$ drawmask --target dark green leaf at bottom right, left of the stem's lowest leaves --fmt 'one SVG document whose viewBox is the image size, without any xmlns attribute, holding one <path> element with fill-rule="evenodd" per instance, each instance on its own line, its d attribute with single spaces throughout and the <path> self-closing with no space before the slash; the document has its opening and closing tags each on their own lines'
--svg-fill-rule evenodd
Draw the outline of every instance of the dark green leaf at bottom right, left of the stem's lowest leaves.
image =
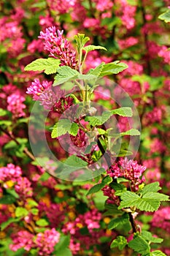
<svg viewBox="0 0 170 256">
<path fill-rule="evenodd" d="M 137 236 L 133 240 L 128 243 L 128 246 L 131 249 L 134 249 L 135 252 L 141 253 L 142 255 L 146 255 L 150 252 L 150 246 L 147 241 L 142 238 L 142 236 Z"/>
</svg>

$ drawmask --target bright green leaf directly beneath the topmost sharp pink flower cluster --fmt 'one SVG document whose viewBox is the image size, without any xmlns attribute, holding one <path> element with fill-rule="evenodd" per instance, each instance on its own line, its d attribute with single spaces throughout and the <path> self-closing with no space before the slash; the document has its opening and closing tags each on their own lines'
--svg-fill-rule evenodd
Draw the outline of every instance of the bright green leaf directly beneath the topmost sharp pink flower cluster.
<svg viewBox="0 0 170 256">
<path fill-rule="evenodd" d="M 58 74 L 55 75 L 53 86 L 58 86 L 61 83 L 66 83 L 67 81 L 77 79 L 78 75 L 80 75 L 77 70 L 72 69 L 69 66 L 61 66 L 58 68 L 57 72 Z"/>
</svg>

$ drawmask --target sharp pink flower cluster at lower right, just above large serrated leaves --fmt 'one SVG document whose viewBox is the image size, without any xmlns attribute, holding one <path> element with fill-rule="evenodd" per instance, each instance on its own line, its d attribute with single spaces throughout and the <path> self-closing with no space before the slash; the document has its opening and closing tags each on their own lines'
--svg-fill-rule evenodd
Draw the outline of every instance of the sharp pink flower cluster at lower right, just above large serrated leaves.
<svg viewBox="0 0 170 256">
<path fill-rule="evenodd" d="M 115 165 L 112 165 L 107 173 L 113 178 L 123 177 L 131 181 L 131 190 L 138 190 L 139 184 L 144 182 L 142 174 L 146 167 L 138 165 L 137 161 L 128 160 L 127 157 L 121 158 Z"/>
</svg>

